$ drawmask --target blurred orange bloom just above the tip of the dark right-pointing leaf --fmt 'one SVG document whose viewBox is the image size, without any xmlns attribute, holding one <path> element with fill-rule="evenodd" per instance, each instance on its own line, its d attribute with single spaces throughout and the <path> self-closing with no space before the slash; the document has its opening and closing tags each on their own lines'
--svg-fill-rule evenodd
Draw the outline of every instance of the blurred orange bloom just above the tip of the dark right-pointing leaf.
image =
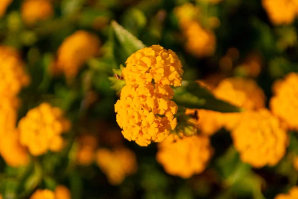
<svg viewBox="0 0 298 199">
<path fill-rule="evenodd" d="M 214 95 L 245 109 L 265 106 L 265 94 L 255 81 L 245 78 L 226 78 L 214 90 Z"/>
</svg>

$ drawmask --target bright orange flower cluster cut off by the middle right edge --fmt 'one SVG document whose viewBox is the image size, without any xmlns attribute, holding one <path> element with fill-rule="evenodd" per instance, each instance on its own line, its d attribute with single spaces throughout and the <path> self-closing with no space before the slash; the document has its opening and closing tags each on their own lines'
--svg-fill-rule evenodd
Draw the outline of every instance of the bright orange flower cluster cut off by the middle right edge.
<svg viewBox="0 0 298 199">
<path fill-rule="evenodd" d="M 298 130 L 298 73 L 290 73 L 273 87 L 270 100 L 272 113 L 285 122 L 289 129 Z"/>
</svg>

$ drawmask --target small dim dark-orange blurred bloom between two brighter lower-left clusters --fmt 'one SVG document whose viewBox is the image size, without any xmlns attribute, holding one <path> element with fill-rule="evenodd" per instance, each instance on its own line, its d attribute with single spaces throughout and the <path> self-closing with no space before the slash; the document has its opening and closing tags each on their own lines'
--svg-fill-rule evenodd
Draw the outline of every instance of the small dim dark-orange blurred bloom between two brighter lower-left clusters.
<svg viewBox="0 0 298 199">
<path fill-rule="evenodd" d="M 98 140 L 93 135 L 83 134 L 79 138 L 79 149 L 77 152 L 77 164 L 88 166 L 92 164 Z"/>
</svg>

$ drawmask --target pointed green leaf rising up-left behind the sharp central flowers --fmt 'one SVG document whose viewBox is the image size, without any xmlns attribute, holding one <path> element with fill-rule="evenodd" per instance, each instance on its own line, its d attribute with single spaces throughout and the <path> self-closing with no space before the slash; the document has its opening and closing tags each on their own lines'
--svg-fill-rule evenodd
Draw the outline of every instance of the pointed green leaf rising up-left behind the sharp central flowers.
<svg viewBox="0 0 298 199">
<path fill-rule="evenodd" d="M 126 59 L 129 56 L 131 56 L 131 54 L 135 53 L 137 50 L 146 47 L 141 40 L 139 40 L 132 33 L 124 29 L 116 21 L 111 22 L 111 27 L 113 28 L 114 34 L 120 44 L 120 49 L 118 47 L 118 49 L 115 50 L 122 50 Z"/>
</svg>

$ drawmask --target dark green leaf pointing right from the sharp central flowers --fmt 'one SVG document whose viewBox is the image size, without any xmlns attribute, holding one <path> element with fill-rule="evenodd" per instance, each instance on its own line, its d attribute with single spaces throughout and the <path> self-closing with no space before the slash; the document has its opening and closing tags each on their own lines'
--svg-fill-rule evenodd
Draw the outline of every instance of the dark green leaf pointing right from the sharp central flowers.
<svg viewBox="0 0 298 199">
<path fill-rule="evenodd" d="M 241 108 L 215 98 L 196 82 L 183 82 L 174 89 L 174 101 L 185 108 L 210 109 L 220 112 L 240 112 Z"/>
</svg>

